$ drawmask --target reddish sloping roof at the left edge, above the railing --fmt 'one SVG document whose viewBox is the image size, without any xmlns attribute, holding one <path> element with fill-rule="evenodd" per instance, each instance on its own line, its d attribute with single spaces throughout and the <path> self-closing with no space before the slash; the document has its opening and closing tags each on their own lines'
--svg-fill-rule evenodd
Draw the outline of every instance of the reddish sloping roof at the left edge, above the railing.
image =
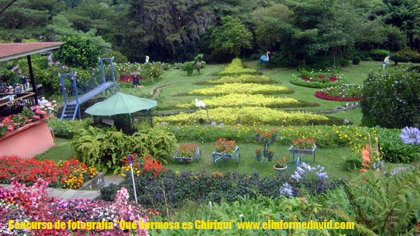
<svg viewBox="0 0 420 236">
<path fill-rule="evenodd" d="M 63 42 L 45 43 L 0 43 L 0 61 L 6 61 L 30 54 L 59 48 Z"/>
</svg>

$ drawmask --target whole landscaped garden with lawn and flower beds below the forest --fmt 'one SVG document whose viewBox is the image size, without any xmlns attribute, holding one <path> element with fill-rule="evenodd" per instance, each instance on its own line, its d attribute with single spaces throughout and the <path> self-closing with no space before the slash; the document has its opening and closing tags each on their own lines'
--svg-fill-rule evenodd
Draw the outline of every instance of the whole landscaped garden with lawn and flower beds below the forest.
<svg viewBox="0 0 420 236">
<path fill-rule="evenodd" d="M 363 62 L 330 71 L 256 71 L 255 61 L 234 59 L 230 64 L 202 63 L 200 74 L 189 75 L 183 64 L 156 62 L 144 78 L 158 79 L 134 88 L 127 75 L 142 66 L 126 63 L 115 68 L 123 92 L 158 100 L 153 127 L 136 114 L 130 135 L 115 126 L 97 126 L 90 118 L 52 117 L 48 124 L 59 146 L 27 160 L 0 158 L 0 182 L 13 184 L 11 190 L 0 189 L 0 207 L 6 211 L 0 222 L 34 217 L 105 222 L 95 230 L 45 231 L 59 235 L 124 235 L 117 223 L 123 220 L 354 223 L 351 230 L 125 230 L 133 235 L 419 231 L 420 131 L 404 128 L 419 125 L 420 89 L 412 84 L 420 76 L 410 64 L 386 73 L 377 73 L 381 65 Z M 377 95 L 378 87 L 386 89 Z M 195 98 L 205 108 L 197 107 Z M 2 121 L 7 126 L 3 136 L 28 117 L 57 113 L 54 105 L 24 111 Z M 100 201 L 57 200 L 46 194 L 47 186 L 78 189 L 97 172 L 123 177 L 120 184 L 101 189 Z M 0 225 L 0 232 L 30 231 L 7 227 Z M 41 234 L 37 229 L 31 232 Z"/>
</svg>

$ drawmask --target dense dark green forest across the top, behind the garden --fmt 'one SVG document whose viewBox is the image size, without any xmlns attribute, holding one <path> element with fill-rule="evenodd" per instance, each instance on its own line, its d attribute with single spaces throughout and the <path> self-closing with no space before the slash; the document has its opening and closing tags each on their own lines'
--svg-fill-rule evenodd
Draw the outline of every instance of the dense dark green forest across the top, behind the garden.
<svg viewBox="0 0 420 236">
<path fill-rule="evenodd" d="M 269 50 L 291 66 L 416 49 L 419 13 L 417 0 L 0 0 L 0 42 L 85 37 L 102 56 L 169 63 Z"/>
</svg>

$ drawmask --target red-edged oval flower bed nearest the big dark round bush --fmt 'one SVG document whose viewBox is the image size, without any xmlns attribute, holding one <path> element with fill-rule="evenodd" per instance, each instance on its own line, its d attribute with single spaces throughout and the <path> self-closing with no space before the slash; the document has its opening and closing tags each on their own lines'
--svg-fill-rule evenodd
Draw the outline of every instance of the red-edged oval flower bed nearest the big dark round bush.
<svg viewBox="0 0 420 236">
<path fill-rule="evenodd" d="M 330 101 L 359 101 L 362 88 L 356 84 L 341 84 L 316 91 L 315 96 Z"/>
</svg>

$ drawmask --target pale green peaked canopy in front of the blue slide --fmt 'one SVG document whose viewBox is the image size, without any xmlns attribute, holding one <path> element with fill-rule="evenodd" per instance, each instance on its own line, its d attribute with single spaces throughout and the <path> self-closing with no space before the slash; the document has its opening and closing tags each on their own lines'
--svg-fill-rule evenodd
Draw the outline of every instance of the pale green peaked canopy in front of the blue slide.
<svg viewBox="0 0 420 236">
<path fill-rule="evenodd" d="M 110 116 L 149 110 L 157 105 L 158 101 L 155 100 L 118 93 L 105 101 L 92 105 L 85 112 L 90 115 Z"/>
</svg>

